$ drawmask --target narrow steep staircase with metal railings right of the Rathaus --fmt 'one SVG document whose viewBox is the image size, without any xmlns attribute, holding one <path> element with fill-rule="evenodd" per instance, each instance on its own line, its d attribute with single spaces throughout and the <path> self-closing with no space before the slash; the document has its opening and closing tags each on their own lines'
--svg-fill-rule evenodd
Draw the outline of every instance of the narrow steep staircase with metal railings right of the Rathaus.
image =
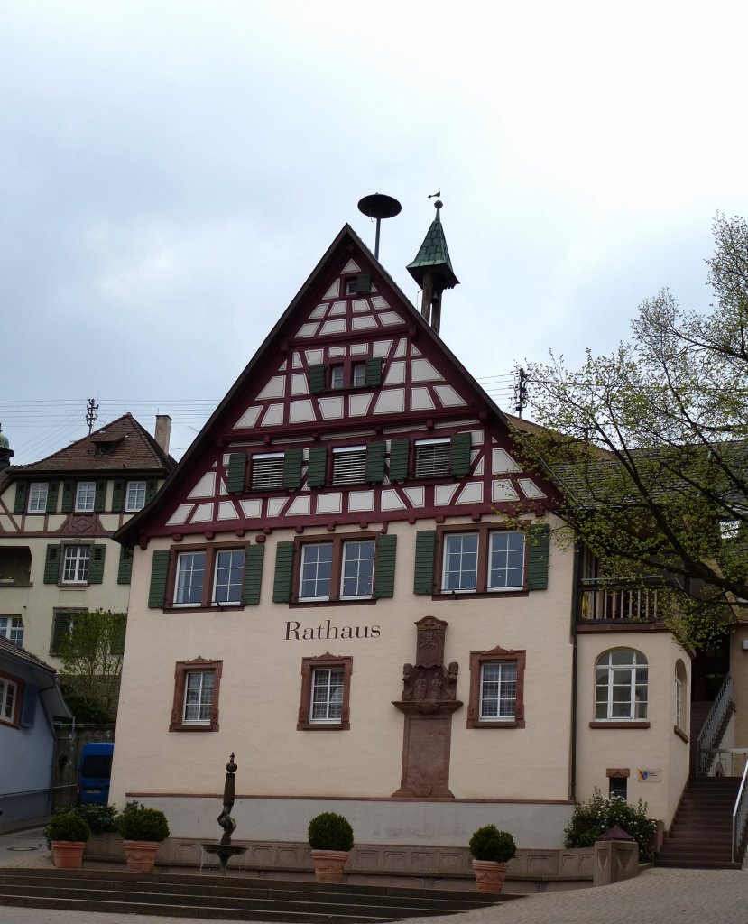
<svg viewBox="0 0 748 924">
<path fill-rule="evenodd" d="M 745 845 L 732 863 L 732 809 L 740 779 L 697 777 L 690 781 L 658 852 L 658 867 L 741 869 Z"/>
</svg>

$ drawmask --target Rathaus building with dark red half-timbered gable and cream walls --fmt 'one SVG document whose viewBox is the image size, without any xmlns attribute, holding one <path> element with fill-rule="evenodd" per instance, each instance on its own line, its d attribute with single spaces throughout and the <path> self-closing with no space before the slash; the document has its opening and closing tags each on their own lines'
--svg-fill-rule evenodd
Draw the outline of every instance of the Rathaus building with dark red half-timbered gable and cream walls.
<svg viewBox="0 0 748 924">
<path fill-rule="evenodd" d="M 439 215 L 410 269 L 421 314 L 345 225 L 117 534 L 112 796 L 163 808 L 176 860 L 216 837 L 232 751 L 236 836 L 283 842 L 270 866 L 326 808 L 372 869 L 449 869 L 489 821 L 560 847 L 596 786 L 668 825 L 688 779 L 691 659 L 660 625 L 587 626 L 554 488 L 431 326 Z"/>
</svg>

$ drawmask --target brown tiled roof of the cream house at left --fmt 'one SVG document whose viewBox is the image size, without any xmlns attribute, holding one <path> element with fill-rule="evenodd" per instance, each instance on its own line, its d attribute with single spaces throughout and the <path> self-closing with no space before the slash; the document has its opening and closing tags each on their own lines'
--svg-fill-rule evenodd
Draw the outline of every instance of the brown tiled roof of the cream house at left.
<svg viewBox="0 0 748 924">
<path fill-rule="evenodd" d="M 125 414 L 88 436 L 29 465 L 11 466 L 4 474 L 47 475 L 65 472 L 166 471 L 176 460 L 131 415 Z"/>
</svg>

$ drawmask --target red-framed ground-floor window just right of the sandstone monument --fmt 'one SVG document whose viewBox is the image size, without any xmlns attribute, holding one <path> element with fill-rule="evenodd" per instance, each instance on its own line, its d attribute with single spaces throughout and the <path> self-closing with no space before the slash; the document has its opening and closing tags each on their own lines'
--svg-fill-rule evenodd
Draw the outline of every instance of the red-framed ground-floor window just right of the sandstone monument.
<svg viewBox="0 0 748 924">
<path fill-rule="evenodd" d="M 525 727 L 525 651 L 470 653 L 467 728 Z"/>
</svg>

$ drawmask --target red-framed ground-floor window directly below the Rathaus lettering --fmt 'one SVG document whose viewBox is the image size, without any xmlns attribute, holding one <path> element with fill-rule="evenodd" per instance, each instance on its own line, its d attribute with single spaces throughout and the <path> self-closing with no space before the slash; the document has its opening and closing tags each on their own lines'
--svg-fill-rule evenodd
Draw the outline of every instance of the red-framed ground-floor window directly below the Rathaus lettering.
<svg viewBox="0 0 748 924">
<path fill-rule="evenodd" d="M 301 705 L 296 728 L 350 728 L 349 700 L 353 659 L 322 655 L 301 665 Z"/>
</svg>

